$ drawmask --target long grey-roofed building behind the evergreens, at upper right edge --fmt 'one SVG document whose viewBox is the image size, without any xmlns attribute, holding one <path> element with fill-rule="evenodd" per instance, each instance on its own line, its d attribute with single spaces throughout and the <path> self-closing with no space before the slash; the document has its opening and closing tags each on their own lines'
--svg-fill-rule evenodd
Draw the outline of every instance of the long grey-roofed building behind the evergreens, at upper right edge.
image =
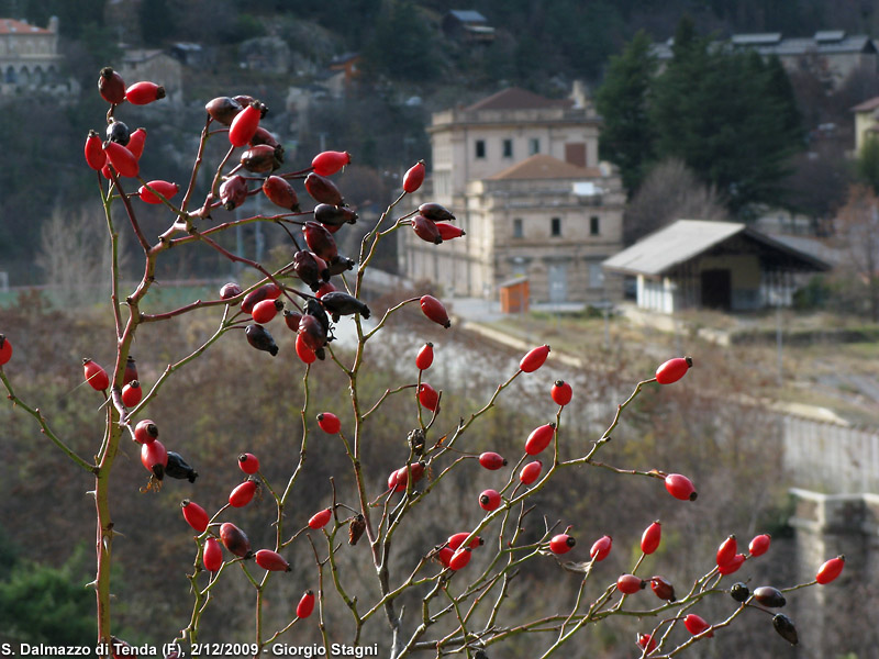
<svg viewBox="0 0 879 659">
<path fill-rule="evenodd" d="M 655 44 L 654 55 L 660 65 L 672 57 L 675 40 Z M 756 51 L 764 58 L 776 55 L 788 72 L 811 71 L 827 89 L 839 85 L 856 70 L 879 72 L 879 48 L 866 34 L 847 34 L 844 30 L 823 30 L 812 36 L 790 37 L 780 32 L 734 34 L 717 47 Z"/>
</svg>

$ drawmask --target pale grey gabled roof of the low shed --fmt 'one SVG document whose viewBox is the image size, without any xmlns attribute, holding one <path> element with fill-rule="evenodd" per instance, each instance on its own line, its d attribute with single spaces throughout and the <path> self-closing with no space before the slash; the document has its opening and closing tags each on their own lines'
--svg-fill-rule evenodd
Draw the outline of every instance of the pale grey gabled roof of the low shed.
<svg viewBox="0 0 879 659">
<path fill-rule="evenodd" d="M 788 267 L 800 270 L 828 270 L 816 257 L 775 241 L 739 222 L 678 220 L 607 259 L 608 270 L 657 277 L 721 245 L 733 236 L 757 243 L 764 250 L 785 257 Z"/>
</svg>

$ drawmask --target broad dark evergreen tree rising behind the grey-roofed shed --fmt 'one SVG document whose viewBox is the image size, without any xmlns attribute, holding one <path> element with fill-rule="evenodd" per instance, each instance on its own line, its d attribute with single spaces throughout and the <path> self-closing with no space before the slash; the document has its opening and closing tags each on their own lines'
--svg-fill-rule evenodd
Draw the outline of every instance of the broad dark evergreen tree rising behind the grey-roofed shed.
<svg viewBox="0 0 879 659">
<path fill-rule="evenodd" d="M 780 183 L 802 147 L 802 131 L 780 75 L 756 52 L 712 46 L 681 21 L 674 58 L 655 81 L 657 156 L 682 159 L 733 213 L 783 203 Z"/>
</svg>

